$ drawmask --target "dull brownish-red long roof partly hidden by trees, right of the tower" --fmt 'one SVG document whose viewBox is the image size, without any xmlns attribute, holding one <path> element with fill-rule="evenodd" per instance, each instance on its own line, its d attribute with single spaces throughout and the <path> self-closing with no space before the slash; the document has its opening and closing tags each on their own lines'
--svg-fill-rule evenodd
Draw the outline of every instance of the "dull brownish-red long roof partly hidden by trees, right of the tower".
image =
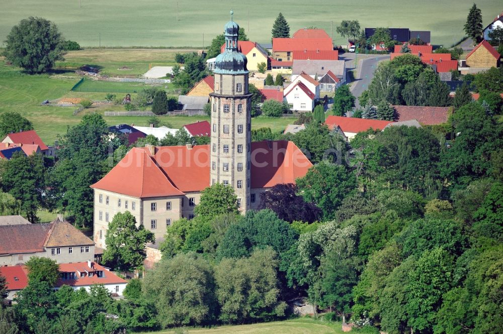
<svg viewBox="0 0 503 334">
<path fill-rule="evenodd" d="M 417 120 L 421 124 L 435 125 L 445 123 L 449 118 L 447 106 L 393 105 L 393 107 L 398 122 Z"/>
</svg>

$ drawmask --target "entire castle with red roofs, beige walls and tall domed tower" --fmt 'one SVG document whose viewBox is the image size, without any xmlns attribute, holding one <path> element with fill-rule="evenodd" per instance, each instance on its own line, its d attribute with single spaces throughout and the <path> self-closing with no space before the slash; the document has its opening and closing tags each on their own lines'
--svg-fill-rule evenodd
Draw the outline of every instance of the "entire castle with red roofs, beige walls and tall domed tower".
<svg viewBox="0 0 503 334">
<path fill-rule="evenodd" d="M 225 51 L 215 60 L 210 145 L 133 148 L 91 186 L 98 247 L 105 247 L 116 213 L 130 211 L 158 239 L 174 221 L 194 217 L 201 191 L 212 184 L 231 186 L 245 213 L 258 208 L 262 192 L 295 183 L 312 166 L 293 142 L 251 142 L 251 94 L 238 31 L 231 12 L 224 27 Z"/>
</svg>

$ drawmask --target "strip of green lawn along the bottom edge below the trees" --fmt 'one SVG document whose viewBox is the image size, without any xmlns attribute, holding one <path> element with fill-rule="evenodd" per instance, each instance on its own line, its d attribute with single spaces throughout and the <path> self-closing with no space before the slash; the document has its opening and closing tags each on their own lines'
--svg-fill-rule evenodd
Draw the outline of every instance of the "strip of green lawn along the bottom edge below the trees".
<svg viewBox="0 0 503 334">
<path fill-rule="evenodd" d="M 342 334 L 341 323 L 332 322 L 322 323 L 307 318 L 265 322 L 250 325 L 221 326 L 211 329 L 192 329 L 185 331 L 164 330 L 158 331 L 158 334 Z"/>
</svg>

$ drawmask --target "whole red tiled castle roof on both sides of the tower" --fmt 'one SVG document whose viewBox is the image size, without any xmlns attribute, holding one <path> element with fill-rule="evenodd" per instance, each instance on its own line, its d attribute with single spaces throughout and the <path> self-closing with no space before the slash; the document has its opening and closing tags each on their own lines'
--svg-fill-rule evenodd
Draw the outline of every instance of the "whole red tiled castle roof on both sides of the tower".
<svg viewBox="0 0 503 334">
<path fill-rule="evenodd" d="M 294 183 L 295 179 L 303 177 L 307 169 L 312 166 L 293 142 L 275 141 L 269 144 L 272 145 L 271 149 L 268 149 L 266 142 L 251 143 L 252 188 L 272 187 L 277 183 Z M 286 152 L 277 151 L 275 147 L 285 149 Z M 151 160 L 146 160 L 144 155 L 148 155 Z M 192 149 L 186 146 L 155 147 L 153 156 L 148 148 L 133 148 L 117 166 L 91 187 L 134 197 L 143 196 L 138 190 L 134 190 L 139 188 L 138 184 L 147 188 L 162 189 L 163 184 L 169 182 L 178 188 L 175 189 L 179 190 L 180 194 L 183 194 L 180 191 L 202 191 L 210 186 L 209 155 L 209 145 L 194 146 Z M 143 168 L 142 165 L 150 161 L 155 162 L 157 170 L 153 167 Z M 270 161 L 273 163 L 262 165 L 263 162 Z M 139 176 L 134 176 L 134 173 Z M 173 193 L 166 192 L 163 195 L 171 194 Z"/>
</svg>

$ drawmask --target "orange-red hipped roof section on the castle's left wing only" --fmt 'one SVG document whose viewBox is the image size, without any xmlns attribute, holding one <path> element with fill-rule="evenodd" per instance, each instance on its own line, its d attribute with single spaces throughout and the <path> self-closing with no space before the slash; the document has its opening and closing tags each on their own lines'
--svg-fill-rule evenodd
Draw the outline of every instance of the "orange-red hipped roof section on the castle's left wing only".
<svg viewBox="0 0 503 334">
<path fill-rule="evenodd" d="M 147 150 L 136 147 L 91 188 L 139 198 L 183 195 L 166 178 Z"/>
</svg>

